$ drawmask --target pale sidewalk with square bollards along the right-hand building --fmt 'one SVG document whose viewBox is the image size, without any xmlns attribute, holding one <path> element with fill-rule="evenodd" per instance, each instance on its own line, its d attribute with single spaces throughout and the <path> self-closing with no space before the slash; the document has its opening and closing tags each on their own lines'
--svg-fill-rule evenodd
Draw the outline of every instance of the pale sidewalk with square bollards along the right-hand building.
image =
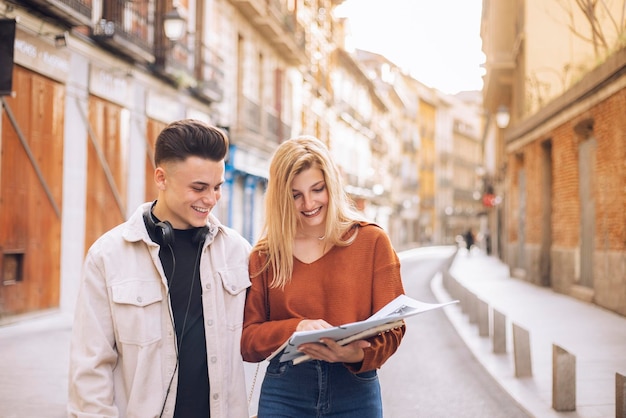
<svg viewBox="0 0 626 418">
<path fill-rule="evenodd" d="M 509 276 L 508 266 L 480 251 L 460 249 L 450 275 L 506 316 L 506 354 L 494 354 L 490 337 L 479 336 L 460 304 L 445 312 L 475 357 L 531 415 L 612 418 L 616 416 L 615 373 L 626 374 L 626 318 L 596 305 Z M 451 297 L 441 275 L 432 282 L 440 301 Z M 491 316 L 491 315 L 490 315 Z M 530 336 L 531 377 L 515 377 L 511 324 Z M 490 332 L 492 335 L 492 332 Z M 552 408 L 552 345 L 576 357 L 576 411 Z M 621 418 L 621 417 L 620 417 Z"/>
</svg>

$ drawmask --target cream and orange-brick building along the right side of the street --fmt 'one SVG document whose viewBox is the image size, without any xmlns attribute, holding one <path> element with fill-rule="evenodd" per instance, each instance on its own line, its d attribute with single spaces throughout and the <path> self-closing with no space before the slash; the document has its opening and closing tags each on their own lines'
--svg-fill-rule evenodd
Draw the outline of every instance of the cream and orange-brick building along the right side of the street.
<svg viewBox="0 0 626 418">
<path fill-rule="evenodd" d="M 517 277 L 626 315 L 623 3 L 483 6 L 498 253 Z"/>
</svg>

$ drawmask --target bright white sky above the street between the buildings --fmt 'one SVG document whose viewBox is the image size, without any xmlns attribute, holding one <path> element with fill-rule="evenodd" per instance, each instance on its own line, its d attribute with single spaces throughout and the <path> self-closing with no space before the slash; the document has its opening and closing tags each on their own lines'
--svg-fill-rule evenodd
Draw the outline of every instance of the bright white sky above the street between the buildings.
<svg viewBox="0 0 626 418">
<path fill-rule="evenodd" d="M 482 89 L 481 9 L 482 0 L 346 0 L 336 13 L 348 18 L 354 48 L 456 94 Z"/>
</svg>

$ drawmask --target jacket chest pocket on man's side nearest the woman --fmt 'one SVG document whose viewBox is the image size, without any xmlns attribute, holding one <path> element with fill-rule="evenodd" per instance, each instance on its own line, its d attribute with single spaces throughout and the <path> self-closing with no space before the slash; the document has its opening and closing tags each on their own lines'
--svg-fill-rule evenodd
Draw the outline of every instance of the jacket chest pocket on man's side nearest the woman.
<svg viewBox="0 0 626 418">
<path fill-rule="evenodd" d="M 224 288 L 224 313 L 226 323 L 230 329 L 240 329 L 243 326 L 243 306 L 246 301 L 246 289 L 252 284 L 248 275 L 248 268 L 235 267 L 217 272 Z"/>
</svg>

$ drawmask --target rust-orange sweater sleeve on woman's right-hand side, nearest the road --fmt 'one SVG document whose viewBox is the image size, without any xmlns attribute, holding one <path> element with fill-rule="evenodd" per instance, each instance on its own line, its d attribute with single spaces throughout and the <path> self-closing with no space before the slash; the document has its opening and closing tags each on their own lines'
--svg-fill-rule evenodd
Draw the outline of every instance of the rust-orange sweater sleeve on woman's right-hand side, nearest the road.
<svg viewBox="0 0 626 418">
<path fill-rule="evenodd" d="M 397 296 L 404 294 L 402 277 L 400 274 L 400 259 L 394 251 L 387 234 L 378 229 L 373 242 L 374 271 L 372 272 L 372 314 L 391 302 Z M 396 328 L 375 337 L 368 338 L 371 346 L 366 348 L 363 361 L 355 364 L 346 364 L 354 373 L 380 368 L 396 352 L 404 337 L 406 325 Z"/>
</svg>

